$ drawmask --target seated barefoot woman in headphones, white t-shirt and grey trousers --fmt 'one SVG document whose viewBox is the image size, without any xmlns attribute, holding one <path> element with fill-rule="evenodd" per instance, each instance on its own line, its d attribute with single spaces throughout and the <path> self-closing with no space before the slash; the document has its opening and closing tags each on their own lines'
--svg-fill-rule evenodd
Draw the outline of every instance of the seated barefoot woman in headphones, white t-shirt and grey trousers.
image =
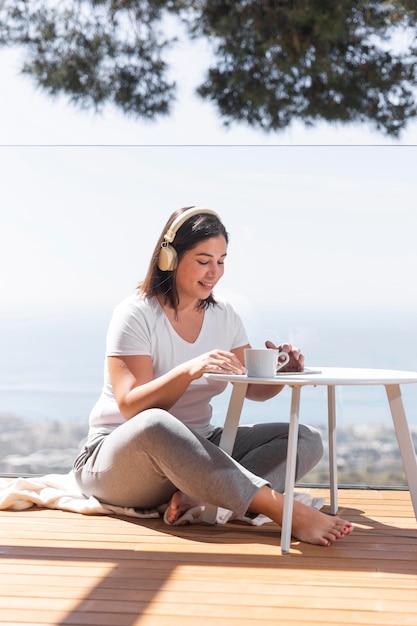
<svg viewBox="0 0 417 626">
<path fill-rule="evenodd" d="M 213 295 L 227 244 L 215 212 L 180 209 L 168 220 L 138 292 L 115 309 L 103 391 L 74 464 L 85 495 L 141 509 L 169 502 L 171 524 L 202 503 L 281 523 L 288 424 L 240 426 L 231 458 L 218 447 L 222 429 L 210 421 L 210 400 L 227 383 L 203 374 L 244 374 L 250 347 L 235 310 Z M 279 347 L 290 355 L 287 369 L 302 371 L 300 350 Z M 281 389 L 249 385 L 247 397 L 262 401 Z M 318 432 L 301 426 L 297 480 L 322 452 Z M 292 531 L 301 541 L 330 545 L 351 530 L 345 520 L 294 502 Z"/>
</svg>

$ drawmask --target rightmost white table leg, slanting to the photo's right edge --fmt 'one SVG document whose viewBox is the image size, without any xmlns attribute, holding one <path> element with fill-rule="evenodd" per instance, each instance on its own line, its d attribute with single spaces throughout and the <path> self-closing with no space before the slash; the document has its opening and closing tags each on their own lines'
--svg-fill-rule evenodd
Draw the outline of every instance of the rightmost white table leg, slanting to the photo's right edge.
<svg viewBox="0 0 417 626">
<path fill-rule="evenodd" d="M 413 440 L 404 411 L 399 385 L 385 385 L 392 421 L 403 461 L 404 472 L 410 490 L 414 514 L 417 518 L 417 459 Z"/>
</svg>

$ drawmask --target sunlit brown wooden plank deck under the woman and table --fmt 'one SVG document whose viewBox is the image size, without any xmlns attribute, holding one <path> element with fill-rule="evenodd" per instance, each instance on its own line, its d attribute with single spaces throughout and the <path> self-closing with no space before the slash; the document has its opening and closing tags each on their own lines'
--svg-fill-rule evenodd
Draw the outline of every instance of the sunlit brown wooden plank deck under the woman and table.
<svg viewBox="0 0 417 626">
<path fill-rule="evenodd" d="M 340 490 L 339 501 L 354 533 L 329 548 L 293 541 L 286 556 L 274 524 L 2 511 L 0 623 L 416 626 L 408 491 Z"/>
</svg>

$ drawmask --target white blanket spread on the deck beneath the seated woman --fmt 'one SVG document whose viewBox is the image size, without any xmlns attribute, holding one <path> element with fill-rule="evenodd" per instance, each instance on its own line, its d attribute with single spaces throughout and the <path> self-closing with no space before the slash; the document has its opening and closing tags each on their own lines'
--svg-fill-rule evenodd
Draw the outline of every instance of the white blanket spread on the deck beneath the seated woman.
<svg viewBox="0 0 417 626">
<path fill-rule="evenodd" d="M 324 498 L 311 498 L 307 493 L 295 493 L 294 497 L 315 509 L 321 509 L 324 504 Z M 34 505 L 84 515 L 126 515 L 139 518 L 158 518 L 160 515 L 163 516 L 168 507 L 168 504 L 165 504 L 158 509 L 139 510 L 102 504 L 97 498 L 93 496 L 87 498 L 81 493 L 72 472 L 33 478 L 15 478 L 11 481 L 0 478 L 0 510 L 23 511 Z M 204 507 L 190 509 L 175 522 L 175 525 L 200 523 L 203 510 Z M 240 519 L 256 526 L 271 522 L 263 515 L 258 515 L 254 519 L 236 518 L 231 511 L 218 509 L 218 524 L 225 524 L 233 519 Z M 164 521 L 169 523 L 165 518 Z"/>
</svg>

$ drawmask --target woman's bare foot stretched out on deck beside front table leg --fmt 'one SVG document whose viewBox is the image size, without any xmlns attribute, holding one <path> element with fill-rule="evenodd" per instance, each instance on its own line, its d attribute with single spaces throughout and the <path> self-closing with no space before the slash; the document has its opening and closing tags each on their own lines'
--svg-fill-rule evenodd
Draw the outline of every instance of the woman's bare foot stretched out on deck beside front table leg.
<svg viewBox="0 0 417 626">
<path fill-rule="evenodd" d="M 330 546 L 353 530 L 350 522 L 325 515 L 294 500 L 292 534 L 300 541 Z"/>
</svg>

